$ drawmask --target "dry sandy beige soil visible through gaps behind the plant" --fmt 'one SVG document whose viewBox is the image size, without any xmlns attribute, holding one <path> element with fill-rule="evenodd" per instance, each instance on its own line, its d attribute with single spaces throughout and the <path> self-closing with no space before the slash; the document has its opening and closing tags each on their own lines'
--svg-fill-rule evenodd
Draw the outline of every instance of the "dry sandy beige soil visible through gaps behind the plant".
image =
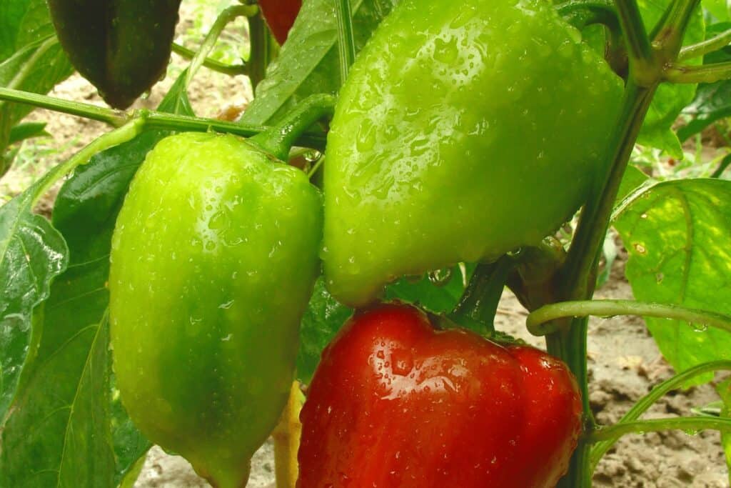
<svg viewBox="0 0 731 488">
<path fill-rule="evenodd" d="M 185 18 L 185 16 L 182 16 Z M 159 83 L 137 106 L 154 108 L 185 61 L 173 59 L 167 79 Z M 251 89 L 243 77 L 228 78 L 202 69 L 191 87 L 192 105 L 200 116 L 216 116 L 228 105 L 249 100 Z M 75 76 L 59 85 L 53 96 L 102 105 L 96 90 Z M 231 96 L 231 94 L 235 94 Z M 51 165 L 56 164 L 107 130 L 102 124 L 72 116 L 37 110 L 29 119 L 49 121 L 50 138 L 33 140 L 21 151 L 18 164 L 0 180 L 0 202 L 22 191 Z M 61 148 L 61 151 L 56 149 Z M 41 203 L 50 214 L 54 193 Z M 624 258 L 613 266 L 610 282 L 599 298 L 629 299 L 632 292 L 624 280 Z M 534 345 L 542 339 L 525 331 L 525 313 L 510 293 L 505 293 L 496 326 Z M 591 375 L 591 406 L 602 424 L 617 421 L 652 386 L 673 374 L 662 359 L 640 318 L 610 318 L 591 321 L 588 343 Z M 688 415 L 690 409 L 717 399 L 712 386 L 678 391 L 660 400 L 647 417 Z M 253 460 L 248 487 L 273 488 L 273 455 L 270 443 L 262 446 Z M 154 448 L 145 462 L 137 488 L 207 487 L 180 457 L 167 456 Z M 594 476 L 595 487 L 723 488 L 729 487 L 720 438 L 716 432 L 686 435 L 683 432 L 632 435 L 622 439 L 602 460 Z"/>
</svg>

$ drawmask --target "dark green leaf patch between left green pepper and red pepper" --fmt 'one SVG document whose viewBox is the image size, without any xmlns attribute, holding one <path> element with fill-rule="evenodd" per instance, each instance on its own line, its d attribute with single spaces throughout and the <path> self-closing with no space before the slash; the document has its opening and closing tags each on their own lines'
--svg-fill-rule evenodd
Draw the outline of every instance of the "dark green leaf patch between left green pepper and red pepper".
<svg viewBox="0 0 731 488">
<path fill-rule="evenodd" d="M 302 383 L 310 382 L 319 364 L 322 350 L 352 314 L 352 309 L 339 304 L 330 293 L 327 293 L 325 279 L 319 277 L 300 325 L 298 380 Z"/>
</svg>

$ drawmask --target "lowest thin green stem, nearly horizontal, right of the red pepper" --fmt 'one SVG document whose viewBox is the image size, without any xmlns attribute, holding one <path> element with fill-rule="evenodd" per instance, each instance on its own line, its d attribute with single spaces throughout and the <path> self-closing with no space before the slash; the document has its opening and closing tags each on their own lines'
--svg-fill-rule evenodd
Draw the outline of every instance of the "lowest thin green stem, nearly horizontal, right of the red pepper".
<svg viewBox="0 0 731 488">
<path fill-rule="evenodd" d="M 610 427 L 595 430 L 589 436 L 590 443 L 602 440 L 616 441 L 626 434 L 644 434 L 645 432 L 659 432 L 662 430 L 681 429 L 697 432 L 699 430 L 713 429 L 723 432 L 731 432 L 731 418 L 713 417 L 674 417 L 674 418 L 653 418 L 626 424 L 614 424 Z"/>
</svg>

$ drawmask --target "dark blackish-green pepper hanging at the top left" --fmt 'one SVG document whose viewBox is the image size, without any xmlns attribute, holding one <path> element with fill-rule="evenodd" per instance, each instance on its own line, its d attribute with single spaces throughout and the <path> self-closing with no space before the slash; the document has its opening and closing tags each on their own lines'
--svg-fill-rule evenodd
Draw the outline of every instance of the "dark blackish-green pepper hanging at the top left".
<svg viewBox="0 0 731 488">
<path fill-rule="evenodd" d="M 167 70 L 181 0 L 48 0 L 71 63 L 115 108 Z"/>
</svg>

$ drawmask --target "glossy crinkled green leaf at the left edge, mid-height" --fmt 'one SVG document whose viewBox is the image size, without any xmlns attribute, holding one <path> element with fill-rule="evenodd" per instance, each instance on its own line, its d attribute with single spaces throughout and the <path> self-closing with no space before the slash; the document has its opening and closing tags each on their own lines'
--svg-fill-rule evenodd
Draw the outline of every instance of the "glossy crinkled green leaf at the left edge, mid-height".
<svg viewBox="0 0 731 488">
<path fill-rule="evenodd" d="M 67 266 L 68 249 L 45 217 L 31 213 L 41 182 L 0 208 L 0 419 L 15 398 L 31 358 L 31 314 Z"/>
</svg>

